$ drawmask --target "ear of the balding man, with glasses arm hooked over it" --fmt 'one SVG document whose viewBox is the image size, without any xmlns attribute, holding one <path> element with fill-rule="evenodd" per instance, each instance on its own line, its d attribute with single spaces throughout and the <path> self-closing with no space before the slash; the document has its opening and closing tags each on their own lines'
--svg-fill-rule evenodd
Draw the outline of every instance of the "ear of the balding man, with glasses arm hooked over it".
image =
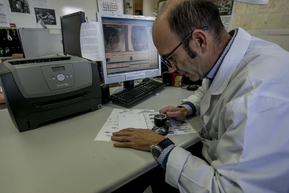
<svg viewBox="0 0 289 193">
<path fill-rule="evenodd" d="M 208 44 L 208 33 L 203 30 L 194 30 L 192 33 L 192 47 L 195 51 L 199 51 L 201 53 L 205 53 L 209 49 Z"/>
</svg>

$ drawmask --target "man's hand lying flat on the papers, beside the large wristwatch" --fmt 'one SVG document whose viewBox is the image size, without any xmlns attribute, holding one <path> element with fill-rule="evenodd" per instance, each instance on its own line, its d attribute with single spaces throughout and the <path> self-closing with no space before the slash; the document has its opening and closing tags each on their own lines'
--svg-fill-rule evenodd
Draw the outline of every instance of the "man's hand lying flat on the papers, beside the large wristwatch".
<svg viewBox="0 0 289 193">
<path fill-rule="evenodd" d="M 144 151 L 150 151 L 151 145 L 165 139 L 164 136 L 157 134 L 150 129 L 127 128 L 112 133 L 112 135 L 112 141 L 122 142 L 114 143 L 114 147 L 133 148 Z"/>
</svg>

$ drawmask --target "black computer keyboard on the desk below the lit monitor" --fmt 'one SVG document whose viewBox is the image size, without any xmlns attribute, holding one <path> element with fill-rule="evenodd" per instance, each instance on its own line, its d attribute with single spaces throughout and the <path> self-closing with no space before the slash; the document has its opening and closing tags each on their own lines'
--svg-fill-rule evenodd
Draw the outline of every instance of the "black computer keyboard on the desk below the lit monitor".
<svg viewBox="0 0 289 193">
<path fill-rule="evenodd" d="M 159 91 L 165 86 L 165 83 L 149 80 L 147 82 L 140 82 L 131 88 L 110 95 L 108 98 L 112 102 L 116 102 L 122 106 L 131 106 L 143 98 L 148 97 L 152 93 Z"/>
</svg>

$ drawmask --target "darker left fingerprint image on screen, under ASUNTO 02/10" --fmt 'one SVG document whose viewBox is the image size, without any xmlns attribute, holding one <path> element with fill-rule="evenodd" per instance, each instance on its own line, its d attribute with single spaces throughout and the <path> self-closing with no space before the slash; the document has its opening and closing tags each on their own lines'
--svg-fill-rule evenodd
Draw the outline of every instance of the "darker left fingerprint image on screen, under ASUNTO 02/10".
<svg viewBox="0 0 289 193">
<path fill-rule="evenodd" d="M 125 52 L 124 25 L 103 24 L 105 52 Z"/>
</svg>

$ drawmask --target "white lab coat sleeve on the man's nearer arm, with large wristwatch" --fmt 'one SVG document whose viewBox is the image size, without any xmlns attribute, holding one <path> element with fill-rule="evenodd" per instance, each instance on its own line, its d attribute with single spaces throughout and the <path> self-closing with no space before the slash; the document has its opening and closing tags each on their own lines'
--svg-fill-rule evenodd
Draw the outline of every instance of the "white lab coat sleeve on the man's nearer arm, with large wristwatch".
<svg viewBox="0 0 289 193">
<path fill-rule="evenodd" d="M 166 182 L 180 192 L 288 192 L 289 102 L 249 95 L 220 113 L 217 160 L 208 165 L 175 147 Z"/>
</svg>

